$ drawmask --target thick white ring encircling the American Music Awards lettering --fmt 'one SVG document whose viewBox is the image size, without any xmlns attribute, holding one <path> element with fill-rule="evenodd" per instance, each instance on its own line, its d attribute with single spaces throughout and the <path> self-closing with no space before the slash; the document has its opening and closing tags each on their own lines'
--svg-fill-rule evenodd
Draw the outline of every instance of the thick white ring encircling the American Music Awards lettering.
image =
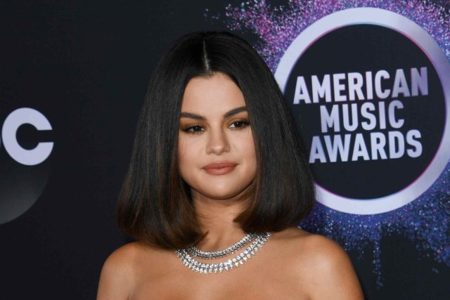
<svg viewBox="0 0 450 300">
<path fill-rule="evenodd" d="M 430 62 L 435 67 L 437 75 L 442 84 L 446 106 L 446 121 L 441 144 L 437 149 L 435 157 L 432 159 L 427 169 L 420 176 L 403 190 L 397 193 L 379 197 L 373 200 L 359 200 L 342 197 L 331 193 L 316 184 L 317 201 L 321 204 L 343 211 L 348 214 L 381 214 L 392 211 L 408 204 L 417 197 L 425 193 L 430 186 L 439 178 L 450 159 L 450 66 L 444 52 L 439 45 L 430 37 L 430 34 L 423 30 L 415 22 L 397 13 L 385 11 L 380 8 L 350 8 L 327 15 L 325 18 L 314 22 L 304 30 L 290 44 L 278 64 L 275 72 L 281 90 L 284 93 L 290 72 L 292 71 L 298 58 L 315 41 L 323 37 L 328 32 L 337 30 L 340 27 L 358 24 L 380 25 L 395 30 L 416 43 L 418 47 L 428 56 Z"/>
</svg>

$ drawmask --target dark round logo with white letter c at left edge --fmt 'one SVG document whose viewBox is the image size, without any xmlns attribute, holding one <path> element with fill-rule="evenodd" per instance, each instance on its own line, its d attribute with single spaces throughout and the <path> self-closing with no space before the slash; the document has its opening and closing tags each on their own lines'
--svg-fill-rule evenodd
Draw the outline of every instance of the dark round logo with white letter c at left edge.
<svg viewBox="0 0 450 300">
<path fill-rule="evenodd" d="M 4 99 L 1 101 L 4 104 L 8 103 Z M 8 126 L 6 119 L 10 117 L 11 120 L 11 115 L 14 113 L 17 116 L 16 122 L 20 122 L 20 117 L 22 117 L 23 124 L 18 126 L 14 130 L 15 132 L 8 134 L 9 137 L 5 134 L 0 135 L 0 164 L 2 167 L 0 172 L 0 224 L 18 218 L 32 207 L 43 192 L 51 171 L 51 149 L 37 153 L 39 144 L 51 143 L 50 130 L 38 130 L 32 125 L 32 123 L 37 124 L 32 117 L 38 116 L 45 123 L 48 120 L 37 110 L 21 107 L 11 110 L 11 106 L 4 105 L 0 110 L 0 126 L 3 125 L 3 129 Z M 18 112 L 22 112 L 22 115 Z M 32 114 L 27 115 L 30 112 Z M 4 133 L 2 130 L 0 132 Z M 8 140 L 8 138 L 11 139 Z M 9 145 L 13 145 L 13 147 Z M 51 145 L 53 147 L 53 144 Z M 21 153 L 11 152 L 11 149 L 14 148 L 20 149 Z M 40 162 L 41 159 L 37 154 L 44 157 L 44 161 Z M 38 157 L 38 160 L 34 159 L 33 162 L 33 157 Z M 26 162 L 27 160 L 29 162 Z"/>
</svg>

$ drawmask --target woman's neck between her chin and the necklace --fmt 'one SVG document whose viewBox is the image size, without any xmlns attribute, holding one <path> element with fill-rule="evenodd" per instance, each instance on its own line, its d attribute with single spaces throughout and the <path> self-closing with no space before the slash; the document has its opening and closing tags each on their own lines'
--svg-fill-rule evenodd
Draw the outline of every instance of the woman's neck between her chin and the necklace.
<svg viewBox="0 0 450 300">
<path fill-rule="evenodd" d="M 229 247 L 245 233 L 233 220 L 248 204 L 247 200 L 215 200 L 193 194 L 200 228 L 205 233 L 197 247 L 203 251 L 216 251 Z"/>
</svg>

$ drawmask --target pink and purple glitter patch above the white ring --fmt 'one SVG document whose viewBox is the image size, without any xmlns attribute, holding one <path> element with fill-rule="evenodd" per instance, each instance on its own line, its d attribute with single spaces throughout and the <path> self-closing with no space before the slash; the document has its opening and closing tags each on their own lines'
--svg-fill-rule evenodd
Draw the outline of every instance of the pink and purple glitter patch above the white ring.
<svg viewBox="0 0 450 300">
<path fill-rule="evenodd" d="M 446 1 L 442 1 L 446 3 Z M 225 8 L 229 30 L 257 34 L 255 48 L 275 72 L 276 67 L 293 40 L 309 25 L 330 13 L 347 8 L 374 7 L 404 15 L 423 27 L 450 57 L 449 4 L 444 8 L 439 1 L 300 1 L 290 0 L 285 6 L 271 6 L 266 1 L 247 1 L 239 6 Z M 207 16 L 209 11 L 206 11 Z M 212 16 L 212 19 L 220 17 Z"/>
</svg>

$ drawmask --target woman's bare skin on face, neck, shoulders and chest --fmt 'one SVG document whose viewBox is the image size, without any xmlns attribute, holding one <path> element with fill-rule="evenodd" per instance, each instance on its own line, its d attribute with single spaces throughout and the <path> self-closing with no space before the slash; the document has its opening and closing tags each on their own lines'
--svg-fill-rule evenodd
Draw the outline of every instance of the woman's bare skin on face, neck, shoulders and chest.
<svg viewBox="0 0 450 300">
<path fill-rule="evenodd" d="M 239 107 L 245 107 L 243 95 L 224 74 L 195 78 L 186 86 L 179 167 L 207 233 L 197 245 L 205 251 L 224 249 L 245 235 L 233 219 L 248 204 L 243 195 L 255 179 L 257 164 L 248 113 L 240 109 L 230 115 Z M 205 166 L 211 162 L 232 162 L 236 167 L 226 174 L 210 174 Z M 97 299 L 356 300 L 363 294 L 338 244 L 288 228 L 273 233 L 243 266 L 218 275 L 188 270 L 174 251 L 143 242 L 126 244 L 105 261 Z"/>
</svg>

